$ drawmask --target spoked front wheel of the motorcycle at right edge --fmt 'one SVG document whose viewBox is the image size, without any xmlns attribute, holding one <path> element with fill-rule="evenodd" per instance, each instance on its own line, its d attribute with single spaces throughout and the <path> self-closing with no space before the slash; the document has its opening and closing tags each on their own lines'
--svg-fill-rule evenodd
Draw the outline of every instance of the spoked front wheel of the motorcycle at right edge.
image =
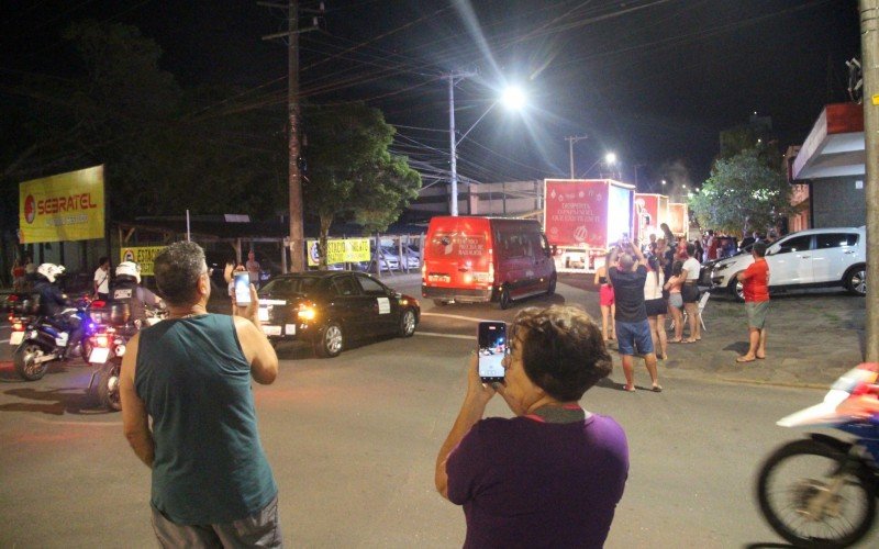
<svg viewBox="0 0 879 549">
<path fill-rule="evenodd" d="M 808 439 L 772 452 L 760 468 L 760 511 L 797 547 L 848 547 L 876 517 L 872 472 L 842 448 Z"/>
</svg>

